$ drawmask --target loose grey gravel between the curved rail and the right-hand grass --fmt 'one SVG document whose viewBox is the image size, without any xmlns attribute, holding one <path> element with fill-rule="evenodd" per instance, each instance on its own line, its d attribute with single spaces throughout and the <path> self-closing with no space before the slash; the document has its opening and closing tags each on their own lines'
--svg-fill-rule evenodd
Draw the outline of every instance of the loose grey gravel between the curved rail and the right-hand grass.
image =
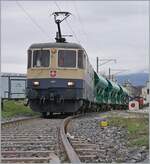
<svg viewBox="0 0 150 164">
<path fill-rule="evenodd" d="M 127 115 L 125 113 L 125 115 Z M 97 162 L 127 162 L 148 161 L 146 147 L 127 147 L 127 131 L 121 127 L 105 127 L 99 125 L 100 114 L 90 114 L 72 120 L 68 129 L 75 137 L 83 137 L 99 146 Z"/>
</svg>

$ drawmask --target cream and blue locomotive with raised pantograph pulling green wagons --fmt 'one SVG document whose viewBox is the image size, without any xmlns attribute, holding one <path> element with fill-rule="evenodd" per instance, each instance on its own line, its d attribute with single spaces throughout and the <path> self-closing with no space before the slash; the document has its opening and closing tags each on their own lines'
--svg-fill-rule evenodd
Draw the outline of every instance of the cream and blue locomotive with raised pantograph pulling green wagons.
<svg viewBox="0 0 150 164">
<path fill-rule="evenodd" d="M 58 26 L 55 43 L 32 44 L 28 49 L 27 98 L 33 111 L 43 115 L 79 110 L 126 108 L 128 92 L 122 86 L 99 76 L 85 49 L 62 38 L 58 19 L 70 13 L 55 12 Z"/>
</svg>

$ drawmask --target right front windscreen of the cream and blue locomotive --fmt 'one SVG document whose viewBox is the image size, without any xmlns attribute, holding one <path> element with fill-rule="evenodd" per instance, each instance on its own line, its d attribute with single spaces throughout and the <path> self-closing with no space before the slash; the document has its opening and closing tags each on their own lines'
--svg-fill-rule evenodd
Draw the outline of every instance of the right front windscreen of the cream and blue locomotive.
<svg viewBox="0 0 150 164">
<path fill-rule="evenodd" d="M 58 51 L 59 67 L 76 67 L 76 51 L 59 50 Z"/>
</svg>

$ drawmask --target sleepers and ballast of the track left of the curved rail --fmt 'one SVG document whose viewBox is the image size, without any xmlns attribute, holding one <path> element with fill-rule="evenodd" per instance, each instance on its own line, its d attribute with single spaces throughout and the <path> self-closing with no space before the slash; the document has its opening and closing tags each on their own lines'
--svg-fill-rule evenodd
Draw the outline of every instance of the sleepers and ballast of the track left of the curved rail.
<svg viewBox="0 0 150 164">
<path fill-rule="evenodd" d="M 58 163 L 65 154 L 60 138 L 62 119 L 32 118 L 2 123 L 2 163 Z"/>
</svg>

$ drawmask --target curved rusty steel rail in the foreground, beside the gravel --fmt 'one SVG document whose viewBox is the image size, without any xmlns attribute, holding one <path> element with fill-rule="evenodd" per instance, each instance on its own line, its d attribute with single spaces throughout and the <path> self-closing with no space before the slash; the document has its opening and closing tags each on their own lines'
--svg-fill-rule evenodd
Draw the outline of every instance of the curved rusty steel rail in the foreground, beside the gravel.
<svg viewBox="0 0 150 164">
<path fill-rule="evenodd" d="M 75 117 L 77 117 L 77 116 L 75 116 Z M 69 141 L 67 139 L 67 136 L 66 136 L 66 128 L 67 128 L 67 125 L 68 125 L 69 121 L 72 118 L 74 118 L 74 117 L 67 117 L 66 119 L 64 119 L 64 121 L 61 125 L 60 135 L 61 135 L 61 138 L 62 138 L 64 148 L 67 152 L 67 156 L 69 158 L 69 161 L 71 163 L 81 163 L 79 157 L 77 156 L 76 152 L 74 151 L 73 147 L 69 143 Z"/>
</svg>

